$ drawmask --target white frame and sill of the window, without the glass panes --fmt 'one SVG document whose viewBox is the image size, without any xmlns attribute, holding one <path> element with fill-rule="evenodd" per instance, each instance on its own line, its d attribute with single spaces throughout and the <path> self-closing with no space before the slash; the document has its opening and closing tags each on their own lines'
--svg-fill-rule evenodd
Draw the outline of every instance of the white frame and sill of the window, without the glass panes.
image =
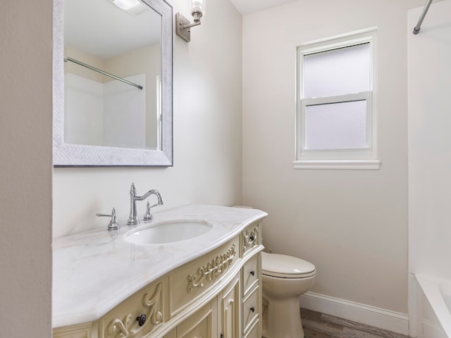
<svg viewBox="0 0 451 338">
<path fill-rule="evenodd" d="M 376 28 L 321 39 L 297 46 L 297 109 L 295 169 L 379 169 L 377 153 L 377 41 Z M 369 43 L 371 90 L 338 96 L 303 97 L 304 56 L 347 46 Z M 366 147 L 359 149 L 307 149 L 305 112 L 307 106 L 350 101 L 366 101 Z"/>
</svg>

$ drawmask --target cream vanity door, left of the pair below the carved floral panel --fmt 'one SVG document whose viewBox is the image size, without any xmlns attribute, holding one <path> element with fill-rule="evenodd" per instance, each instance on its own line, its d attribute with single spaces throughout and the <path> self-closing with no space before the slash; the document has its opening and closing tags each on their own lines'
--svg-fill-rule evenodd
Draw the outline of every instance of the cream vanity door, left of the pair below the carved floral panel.
<svg viewBox="0 0 451 338">
<path fill-rule="evenodd" d="M 217 303 L 211 301 L 177 326 L 177 338 L 216 338 Z"/>
</svg>

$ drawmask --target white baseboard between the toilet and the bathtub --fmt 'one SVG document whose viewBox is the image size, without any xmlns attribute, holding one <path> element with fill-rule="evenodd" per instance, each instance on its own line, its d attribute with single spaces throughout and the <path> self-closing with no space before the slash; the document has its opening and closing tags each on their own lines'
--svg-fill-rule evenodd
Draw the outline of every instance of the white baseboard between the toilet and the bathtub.
<svg viewBox="0 0 451 338">
<path fill-rule="evenodd" d="M 409 335 L 409 316 L 362 303 L 306 292 L 299 297 L 302 308 Z"/>
</svg>

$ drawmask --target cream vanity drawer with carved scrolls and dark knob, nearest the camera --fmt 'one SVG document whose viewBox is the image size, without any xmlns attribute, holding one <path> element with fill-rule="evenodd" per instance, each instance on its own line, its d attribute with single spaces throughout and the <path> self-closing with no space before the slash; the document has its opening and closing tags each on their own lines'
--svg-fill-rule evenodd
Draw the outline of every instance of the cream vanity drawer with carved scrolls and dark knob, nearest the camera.
<svg viewBox="0 0 451 338">
<path fill-rule="evenodd" d="M 141 323 L 138 321 L 140 317 Z M 163 325 L 162 281 L 145 287 L 100 318 L 99 338 L 142 337 L 161 325 Z"/>
</svg>

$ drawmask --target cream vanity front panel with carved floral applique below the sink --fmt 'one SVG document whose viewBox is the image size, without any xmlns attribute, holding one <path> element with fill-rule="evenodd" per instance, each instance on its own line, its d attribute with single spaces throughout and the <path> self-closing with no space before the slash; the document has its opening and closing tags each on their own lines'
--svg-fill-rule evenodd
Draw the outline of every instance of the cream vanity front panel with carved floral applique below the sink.
<svg viewBox="0 0 451 338">
<path fill-rule="evenodd" d="M 239 237 L 169 275 L 171 317 L 221 280 L 238 261 Z"/>
</svg>

